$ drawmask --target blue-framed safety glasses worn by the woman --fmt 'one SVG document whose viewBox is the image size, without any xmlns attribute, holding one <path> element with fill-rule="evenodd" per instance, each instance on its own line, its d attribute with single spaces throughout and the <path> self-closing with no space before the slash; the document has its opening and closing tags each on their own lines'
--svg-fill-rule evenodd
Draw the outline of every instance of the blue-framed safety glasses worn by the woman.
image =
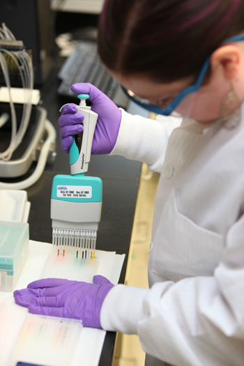
<svg viewBox="0 0 244 366">
<path fill-rule="evenodd" d="M 229 37 L 226 40 L 224 40 L 222 45 L 226 45 L 227 43 L 231 42 L 238 42 L 240 40 L 244 40 L 244 34 Z M 202 82 L 204 81 L 204 77 L 210 64 L 210 59 L 211 55 L 208 56 L 208 58 L 204 62 L 195 84 L 187 86 L 185 89 L 183 89 L 183 91 L 181 91 L 181 93 L 178 93 L 178 96 L 176 96 L 173 100 L 171 100 L 169 105 L 167 105 L 167 107 L 165 108 L 162 108 L 159 105 L 150 105 L 147 100 L 144 100 L 142 98 L 133 95 L 133 93 L 130 91 L 126 91 L 125 88 L 123 88 L 123 86 L 122 89 L 128 96 L 128 98 L 130 98 L 130 100 L 133 100 L 133 102 L 135 102 L 137 105 L 143 107 L 144 109 L 147 109 L 150 112 L 154 112 L 155 114 L 162 114 L 164 116 L 169 116 L 177 108 L 177 112 L 179 110 L 179 113 L 182 116 L 189 116 L 190 109 L 192 109 L 192 105 L 195 100 L 196 92 L 199 90 Z"/>
</svg>

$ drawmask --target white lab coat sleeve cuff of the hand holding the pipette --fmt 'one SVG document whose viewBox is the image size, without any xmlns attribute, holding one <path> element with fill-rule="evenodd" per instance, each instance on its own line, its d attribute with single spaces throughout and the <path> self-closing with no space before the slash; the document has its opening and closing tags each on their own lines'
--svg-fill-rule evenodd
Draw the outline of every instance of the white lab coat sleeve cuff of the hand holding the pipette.
<svg viewBox="0 0 244 366">
<path fill-rule="evenodd" d="M 176 117 L 160 116 L 160 120 L 132 116 L 121 109 L 121 125 L 110 155 L 146 162 L 149 170 L 162 171 L 169 136 L 181 123 Z"/>
</svg>

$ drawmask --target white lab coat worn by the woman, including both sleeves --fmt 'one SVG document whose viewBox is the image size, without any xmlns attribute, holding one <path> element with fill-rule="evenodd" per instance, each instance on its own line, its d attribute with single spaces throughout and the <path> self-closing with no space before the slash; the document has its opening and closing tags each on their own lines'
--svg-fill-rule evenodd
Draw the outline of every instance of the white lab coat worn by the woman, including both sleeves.
<svg viewBox="0 0 244 366">
<path fill-rule="evenodd" d="M 161 120 L 123 112 L 112 154 L 161 173 L 150 289 L 114 287 L 101 324 L 170 365 L 243 366 L 244 117 L 231 131 L 183 120 L 170 137 Z"/>
</svg>

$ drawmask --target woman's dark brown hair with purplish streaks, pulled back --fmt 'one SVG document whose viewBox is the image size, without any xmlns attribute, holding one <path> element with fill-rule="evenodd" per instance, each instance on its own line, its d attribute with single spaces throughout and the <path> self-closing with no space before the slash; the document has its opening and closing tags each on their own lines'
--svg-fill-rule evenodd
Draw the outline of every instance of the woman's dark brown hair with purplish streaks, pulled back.
<svg viewBox="0 0 244 366">
<path fill-rule="evenodd" d="M 222 42 L 244 31 L 244 0 L 107 0 L 98 52 L 122 75 L 155 82 L 196 76 Z"/>
</svg>

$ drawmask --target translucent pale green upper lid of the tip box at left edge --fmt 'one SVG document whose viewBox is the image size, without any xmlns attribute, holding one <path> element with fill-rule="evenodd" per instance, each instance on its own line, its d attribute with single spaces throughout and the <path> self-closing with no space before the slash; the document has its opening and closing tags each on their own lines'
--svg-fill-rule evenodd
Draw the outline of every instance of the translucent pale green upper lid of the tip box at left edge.
<svg viewBox="0 0 244 366">
<path fill-rule="evenodd" d="M 0 270 L 13 271 L 29 241 L 29 224 L 0 221 Z"/>
</svg>

